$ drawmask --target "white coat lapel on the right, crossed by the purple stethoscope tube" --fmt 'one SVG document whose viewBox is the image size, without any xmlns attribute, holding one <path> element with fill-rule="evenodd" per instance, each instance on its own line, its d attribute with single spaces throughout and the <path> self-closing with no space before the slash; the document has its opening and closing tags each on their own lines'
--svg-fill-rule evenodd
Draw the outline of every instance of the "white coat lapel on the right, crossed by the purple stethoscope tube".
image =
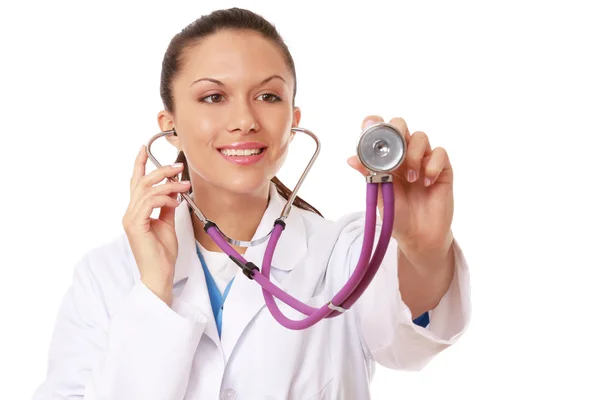
<svg viewBox="0 0 600 400">
<path fill-rule="evenodd" d="M 253 240 L 259 239 L 271 231 L 275 220 L 281 215 L 285 203 L 286 200 L 281 197 L 275 186 L 272 185 L 269 206 L 263 215 Z M 307 235 L 302 217 L 298 214 L 297 209 L 292 208 L 292 212 L 286 220 L 286 229 L 279 238 L 275 249 L 272 269 L 277 268 L 279 270 L 291 271 L 307 251 L 306 239 Z M 244 254 L 244 258 L 262 269 L 267 242 L 248 248 Z M 287 277 L 281 282 L 275 279 L 273 275 L 271 275 L 270 279 L 275 285 L 287 291 L 287 286 L 289 286 L 286 285 L 286 283 L 289 283 Z M 276 301 L 280 303 L 279 300 L 276 299 Z M 266 305 L 262 286 L 256 281 L 247 278 L 240 270 L 231 286 L 223 309 L 221 343 L 226 360 L 229 359 L 246 327 L 264 307 Z"/>
</svg>

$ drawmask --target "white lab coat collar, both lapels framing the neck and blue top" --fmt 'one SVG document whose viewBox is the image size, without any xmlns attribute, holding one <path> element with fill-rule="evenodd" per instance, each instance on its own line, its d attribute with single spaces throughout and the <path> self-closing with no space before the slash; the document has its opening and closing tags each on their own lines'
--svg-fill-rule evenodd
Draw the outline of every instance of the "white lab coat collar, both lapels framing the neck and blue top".
<svg viewBox="0 0 600 400">
<path fill-rule="evenodd" d="M 281 215 L 286 204 L 286 200 L 278 193 L 274 184 L 271 184 L 269 196 L 269 204 L 252 240 L 259 239 L 271 231 L 275 220 Z M 272 270 L 293 270 L 307 252 L 308 235 L 304 219 L 300 215 L 301 212 L 298 208 L 292 207 L 292 211 L 285 221 L 286 229 L 281 234 L 273 255 Z M 238 271 L 225 302 L 222 334 L 219 341 L 206 278 L 196 253 L 192 217 L 186 202 L 182 202 L 176 209 L 175 231 L 179 241 L 179 253 L 175 263 L 174 284 L 186 278 L 188 280 L 179 298 L 174 299 L 174 309 L 187 316 L 201 314 L 202 316 L 199 318 L 207 320 L 205 333 L 217 346 L 222 345 L 227 360 L 246 326 L 265 307 L 262 287 L 256 281 L 248 279 L 241 269 Z M 244 258 L 262 269 L 267 243 L 268 241 L 265 241 L 258 246 L 249 247 L 246 249 Z M 270 279 L 275 285 L 286 290 L 287 279 L 278 281 L 273 275 Z"/>
</svg>

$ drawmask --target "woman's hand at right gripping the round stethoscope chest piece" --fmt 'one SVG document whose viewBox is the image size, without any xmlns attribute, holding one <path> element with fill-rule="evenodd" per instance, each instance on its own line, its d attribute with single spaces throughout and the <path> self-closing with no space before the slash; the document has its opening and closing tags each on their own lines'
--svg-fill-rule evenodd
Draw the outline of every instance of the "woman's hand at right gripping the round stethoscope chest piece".
<svg viewBox="0 0 600 400">
<path fill-rule="evenodd" d="M 379 116 L 365 118 L 362 127 L 384 122 Z M 393 237 L 400 251 L 415 266 L 440 265 L 452 245 L 454 213 L 453 171 L 446 150 L 433 148 L 424 132 L 410 133 L 402 118 L 389 122 L 406 139 L 404 162 L 392 172 L 395 198 Z M 357 156 L 348 164 L 363 175 L 369 171 Z M 380 215 L 383 215 L 381 196 Z"/>
</svg>

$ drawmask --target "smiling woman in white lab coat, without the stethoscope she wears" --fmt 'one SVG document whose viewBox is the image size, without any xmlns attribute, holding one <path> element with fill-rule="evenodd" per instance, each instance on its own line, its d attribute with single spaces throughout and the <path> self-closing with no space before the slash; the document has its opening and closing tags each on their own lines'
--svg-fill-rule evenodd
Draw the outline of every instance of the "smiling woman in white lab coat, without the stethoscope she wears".
<svg viewBox="0 0 600 400">
<path fill-rule="evenodd" d="M 140 149 L 125 233 L 76 266 L 35 399 L 367 399 L 377 363 L 420 369 L 461 336 L 469 275 L 451 231 L 452 168 L 401 118 L 389 121 L 408 143 L 394 171 L 393 240 L 358 302 L 308 329 L 280 325 L 260 285 L 178 201 L 191 193 L 231 238 L 267 234 L 290 195 L 276 174 L 300 124 L 295 93 L 286 45 L 252 12 L 217 11 L 173 38 L 158 124 L 175 130 L 179 163 L 146 174 Z M 357 264 L 364 213 L 329 221 L 298 198 L 286 224 L 270 279 L 321 307 Z M 265 247 L 236 249 L 260 266 Z"/>
</svg>

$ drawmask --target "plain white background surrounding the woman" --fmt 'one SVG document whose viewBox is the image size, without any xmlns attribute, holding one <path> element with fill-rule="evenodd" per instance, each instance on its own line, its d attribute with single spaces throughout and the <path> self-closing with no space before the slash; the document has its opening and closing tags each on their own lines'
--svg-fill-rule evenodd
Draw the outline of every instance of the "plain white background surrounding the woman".
<svg viewBox="0 0 600 400">
<path fill-rule="evenodd" d="M 120 234 L 171 37 L 232 5 L 275 23 L 295 58 L 301 125 L 323 144 L 300 195 L 328 218 L 363 208 L 346 158 L 366 115 L 405 118 L 453 162 L 472 324 L 421 373 L 379 368 L 374 398 L 600 398 L 600 15 L 413 3 L 3 3 L 0 398 L 32 396 L 74 263 Z"/>
</svg>

